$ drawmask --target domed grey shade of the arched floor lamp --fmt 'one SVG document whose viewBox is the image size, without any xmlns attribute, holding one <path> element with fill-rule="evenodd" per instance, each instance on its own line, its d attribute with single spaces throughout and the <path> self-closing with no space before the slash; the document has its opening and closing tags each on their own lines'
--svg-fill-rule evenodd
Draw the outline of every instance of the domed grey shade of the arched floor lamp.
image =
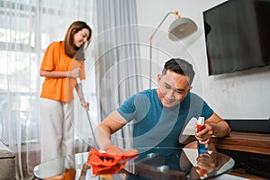
<svg viewBox="0 0 270 180">
<path fill-rule="evenodd" d="M 178 18 L 169 27 L 170 40 L 182 40 L 197 31 L 197 25 L 189 18 Z"/>
</svg>

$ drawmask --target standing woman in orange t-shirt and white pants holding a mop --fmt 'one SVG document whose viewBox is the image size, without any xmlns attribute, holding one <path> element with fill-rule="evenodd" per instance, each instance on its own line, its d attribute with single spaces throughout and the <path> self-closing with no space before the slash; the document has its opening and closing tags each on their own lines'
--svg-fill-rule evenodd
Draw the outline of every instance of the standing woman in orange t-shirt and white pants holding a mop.
<svg viewBox="0 0 270 180">
<path fill-rule="evenodd" d="M 45 76 L 40 94 L 41 162 L 73 153 L 73 90 L 76 88 L 88 111 L 89 103 L 84 103 L 76 78 L 85 79 L 83 49 L 88 47 L 91 34 L 85 22 L 74 22 L 65 40 L 52 42 L 45 51 L 40 66 L 40 76 Z"/>
</svg>

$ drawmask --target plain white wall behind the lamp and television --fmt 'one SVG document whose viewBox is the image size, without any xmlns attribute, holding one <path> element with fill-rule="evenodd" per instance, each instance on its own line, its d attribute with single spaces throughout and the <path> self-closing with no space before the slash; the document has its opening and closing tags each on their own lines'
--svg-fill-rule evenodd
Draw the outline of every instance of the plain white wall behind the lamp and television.
<svg viewBox="0 0 270 180">
<path fill-rule="evenodd" d="M 168 16 L 153 39 L 153 60 L 156 62 L 152 78 L 160 72 L 166 59 L 187 58 L 193 62 L 196 77 L 193 92 L 201 94 L 207 103 L 225 119 L 268 119 L 270 117 L 270 70 L 257 68 L 220 76 L 208 76 L 203 36 L 202 12 L 224 0 L 137 0 L 141 57 L 148 68 L 149 36 L 168 12 L 193 19 L 199 31 L 182 42 L 167 40 L 166 31 L 174 20 Z M 197 39 L 196 39 L 197 38 Z M 268 69 L 268 71 L 267 71 Z M 146 71 L 148 69 L 145 69 Z M 155 86 L 155 85 L 154 85 Z"/>
</svg>

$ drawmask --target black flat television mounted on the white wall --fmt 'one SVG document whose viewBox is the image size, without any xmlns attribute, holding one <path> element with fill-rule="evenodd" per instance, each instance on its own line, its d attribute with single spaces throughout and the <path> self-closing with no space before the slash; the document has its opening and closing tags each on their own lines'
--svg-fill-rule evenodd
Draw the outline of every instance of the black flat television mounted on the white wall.
<svg viewBox="0 0 270 180">
<path fill-rule="evenodd" d="M 229 0 L 203 20 L 210 76 L 270 65 L 270 0 Z"/>
</svg>

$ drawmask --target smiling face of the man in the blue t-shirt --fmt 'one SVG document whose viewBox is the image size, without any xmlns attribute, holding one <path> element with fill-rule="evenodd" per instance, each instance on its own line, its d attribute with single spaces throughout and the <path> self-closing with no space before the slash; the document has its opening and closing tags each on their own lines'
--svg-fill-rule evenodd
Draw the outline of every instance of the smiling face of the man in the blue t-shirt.
<svg viewBox="0 0 270 180">
<path fill-rule="evenodd" d="M 184 100 L 184 97 L 192 89 L 188 79 L 184 75 L 177 74 L 171 70 L 166 75 L 157 76 L 157 94 L 161 103 L 166 107 L 175 106 Z"/>
</svg>

